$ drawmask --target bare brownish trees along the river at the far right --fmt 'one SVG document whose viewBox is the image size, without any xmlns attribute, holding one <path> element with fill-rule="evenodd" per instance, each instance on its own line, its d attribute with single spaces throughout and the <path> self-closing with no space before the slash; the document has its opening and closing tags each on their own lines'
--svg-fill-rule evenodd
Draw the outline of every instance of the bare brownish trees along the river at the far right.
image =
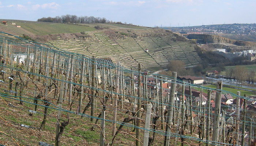
<svg viewBox="0 0 256 146">
<path fill-rule="evenodd" d="M 253 83 L 255 79 L 255 71 L 249 71 L 243 66 L 236 66 L 235 68 L 228 69 L 226 71 L 226 76 L 229 78 L 235 78 L 238 83 L 242 83 L 242 81 L 248 81 Z"/>
</svg>

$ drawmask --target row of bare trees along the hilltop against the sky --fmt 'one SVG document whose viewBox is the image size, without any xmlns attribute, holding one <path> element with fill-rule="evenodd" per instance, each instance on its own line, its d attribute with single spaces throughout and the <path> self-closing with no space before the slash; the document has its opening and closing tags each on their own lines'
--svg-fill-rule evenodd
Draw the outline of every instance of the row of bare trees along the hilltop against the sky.
<svg viewBox="0 0 256 146">
<path fill-rule="evenodd" d="M 38 22 L 54 22 L 54 23 L 116 23 L 116 24 L 127 24 L 122 22 L 113 22 L 106 18 L 94 17 L 94 16 L 76 16 L 76 15 L 61 15 L 56 17 L 43 17 L 37 19 Z M 129 24 L 133 25 L 133 24 Z"/>
</svg>

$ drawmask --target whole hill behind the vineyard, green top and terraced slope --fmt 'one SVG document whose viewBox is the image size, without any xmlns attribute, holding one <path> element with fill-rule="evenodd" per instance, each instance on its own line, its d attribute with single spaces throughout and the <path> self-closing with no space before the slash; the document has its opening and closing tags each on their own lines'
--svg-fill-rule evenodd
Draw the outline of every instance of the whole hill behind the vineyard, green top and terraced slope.
<svg viewBox="0 0 256 146">
<path fill-rule="evenodd" d="M 25 34 L 72 53 L 111 58 L 114 63 L 120 61 L 127 67 L 141 63 L 143 68 L 164 68 L 172 60 L 180 60 L 185 66 L 202 62 L 194 48 L 196 44 L 185 38 L 177 39 L 177 35 L 162 29 L 122 24 L 76 25 L 8 20 L 7 25 L 0 24 L 0 30 L 14 35 Z"/>
</svg>

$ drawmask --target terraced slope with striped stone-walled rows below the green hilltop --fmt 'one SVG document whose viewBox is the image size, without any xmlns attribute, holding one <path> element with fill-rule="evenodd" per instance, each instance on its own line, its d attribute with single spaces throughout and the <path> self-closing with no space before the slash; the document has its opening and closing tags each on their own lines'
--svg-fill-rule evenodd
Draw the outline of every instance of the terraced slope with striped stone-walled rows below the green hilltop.
<svg viewBox="0 0 256 146">
<path fill-rule="evenodd" d="M 72 53 L 111 58 L 114 63 L 120 61 L 127 67 L 136 67 L 138 62 L 144 68 L 165 67 L 173 60 L 180 60 L 186 66 L 200 64 L 195 44 L 177 41 L 171 32 L 158 33 L 155 30 L 93 31 L 84 38 L 59 37 L 48 43 Z"/>
</svg>

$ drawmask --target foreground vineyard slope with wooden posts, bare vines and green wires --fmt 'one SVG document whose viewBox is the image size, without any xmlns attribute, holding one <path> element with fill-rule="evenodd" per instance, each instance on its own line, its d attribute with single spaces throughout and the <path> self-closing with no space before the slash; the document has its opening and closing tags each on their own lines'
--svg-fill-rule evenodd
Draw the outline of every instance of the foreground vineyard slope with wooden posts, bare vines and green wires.
<svg viewBox="0 0 256 146">
<path fill-rule="evenodd" d="M 221 81 L 207 88 L 4 32 L 0 61 L 0 145 L 244 146 L 256 138 L 255 109 L 246 106 L 255 99 Z"/>
</svg>

